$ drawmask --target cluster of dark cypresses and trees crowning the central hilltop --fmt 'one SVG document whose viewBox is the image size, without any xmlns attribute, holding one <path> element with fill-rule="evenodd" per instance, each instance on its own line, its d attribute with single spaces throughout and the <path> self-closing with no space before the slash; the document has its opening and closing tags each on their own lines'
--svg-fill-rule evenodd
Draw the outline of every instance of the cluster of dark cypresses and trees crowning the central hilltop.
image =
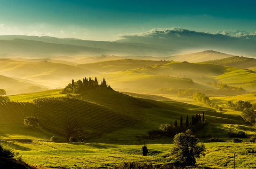
<svg viewBox="0 0 256 169">
<path fill-rule="evenodd" d="M 108 82 L 105 80 L 105 78 L 103 78 L 101 84 L 99 84 L 99 82 L 97 81 L 97 77 L 95 77 L 94 80 L 92 80 L 91 77 L 89 77 L 89 79 L 85 77 L 83 78 L 83 81 L 78 80 L 77 82 L 74 82 L 74 79 L 72 79 L 72 82 L 64 88 L 63 93 L 80 93 L 96 89 L 98 87 L 108 86 Z"/>
</svg>

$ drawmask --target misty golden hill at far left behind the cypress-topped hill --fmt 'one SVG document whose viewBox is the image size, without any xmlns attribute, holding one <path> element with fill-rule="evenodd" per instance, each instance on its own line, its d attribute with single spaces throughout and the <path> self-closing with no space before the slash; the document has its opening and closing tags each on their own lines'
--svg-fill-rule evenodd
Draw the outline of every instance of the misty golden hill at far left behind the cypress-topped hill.
<svg viewBox="0 0 256 169">
<path fill-rule="evenodd" d="M 48 61 L 28 62 L 0 59 L 0 74 L 36 81 L 49 87 L 59 87 L 61 81 L 100 74 L 96 71 Z"/>
</svg>

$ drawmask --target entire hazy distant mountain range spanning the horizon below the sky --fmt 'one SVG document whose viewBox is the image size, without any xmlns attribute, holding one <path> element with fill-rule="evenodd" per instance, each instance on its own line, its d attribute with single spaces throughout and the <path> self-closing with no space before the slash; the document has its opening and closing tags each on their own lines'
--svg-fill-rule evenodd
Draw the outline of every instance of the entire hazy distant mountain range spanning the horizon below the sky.
<svg viewBox="0 0 256 169">
<path fill-rule="evenodd" d="M 151 30 L 123 35 L 114 42 L 75 38 L 21 35 L 0 36 L 0 57 L 170 57 L 194 51 L 214 50 L 247 57 L 256 56 L 255 36 L 231 37 L 184 29 Z M 142 59 L 142 58 L 140 58 Z M 221 58 L 211 58 L 221 59 Z M 186 58 L 184 58 L 186 61 Z M 192 61 L 192 60 L 191 60 Z M 207 60 L 201 60 L 207 61 Z"/>
</svg>

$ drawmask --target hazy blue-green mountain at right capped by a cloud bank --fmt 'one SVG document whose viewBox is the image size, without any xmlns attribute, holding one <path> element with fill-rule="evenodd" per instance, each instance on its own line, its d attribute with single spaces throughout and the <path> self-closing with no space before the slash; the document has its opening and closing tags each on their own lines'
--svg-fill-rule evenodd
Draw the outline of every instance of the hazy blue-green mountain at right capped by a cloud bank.
<svg viewBox="0 0 256 169">
<path fill-rule="evenodd" d="M 181 28 L 158 30 L 144 33 L 125 34 L 116 42 L 145 43 L 166 46 L 177 51 L 212 49 L 238 55 L 256 56 L 255 36 L 232 37 L 223 34 L 189 31 Z"/>
</svg>

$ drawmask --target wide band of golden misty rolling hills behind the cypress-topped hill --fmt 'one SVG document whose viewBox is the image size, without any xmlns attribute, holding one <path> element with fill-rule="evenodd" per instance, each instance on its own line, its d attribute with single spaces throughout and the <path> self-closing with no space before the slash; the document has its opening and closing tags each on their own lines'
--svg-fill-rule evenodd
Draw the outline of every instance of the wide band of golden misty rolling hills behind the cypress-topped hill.
<svg viewBox="0 0 256 169">
<path fill-rule="evenodd" d="M 218 52 L 204 51 L 199 53 L 198 60 L 201 57 L 208 58 L 210 54 L 220 57 L 228 56 Z M 190 55 L 192 59 L 198 56 L 197 54 Z M 239 57 L 230 58 L 240 60 Z M 243 87 L 248 91 L 254 91 L 256 87 L 254 83 L 256 74 L 253 71 L 207 62 L 122 59 L 72 64 L 72 62 L 51 59 L 0 59 L 0 69 L 1 75 L 27 80 L 30 83 L 47 86 L 49 89 L 64 87 L 70 83 L 69 79 L 76 81 L 89 76 L 92 78 L 98 76 L 102 79 L 105 77 L 115 90 L 140 93 L 154 93 L 161 88 L 216 91 L 217 89 L 209 83 Z"/>
</svg>

